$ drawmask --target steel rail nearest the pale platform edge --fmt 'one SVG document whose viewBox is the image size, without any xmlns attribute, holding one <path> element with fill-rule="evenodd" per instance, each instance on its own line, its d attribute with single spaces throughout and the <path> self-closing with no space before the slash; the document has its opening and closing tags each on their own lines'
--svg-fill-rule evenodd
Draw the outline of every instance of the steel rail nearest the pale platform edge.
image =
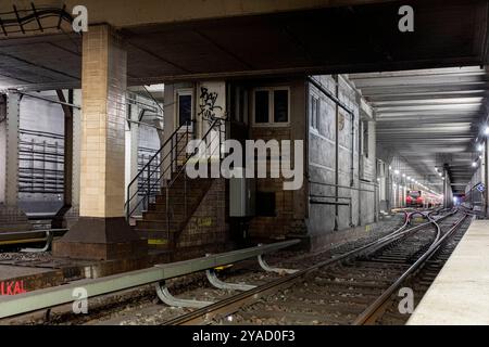
<svg viewBox="0 0 489 347">
<path fill-rule="evenodd" d="M 392 283 L 389 288 L 387 288 L 371 306 L 368 306 L 353 322 L 353 325 L 364 325 L 364 324 L 373 324 L 377 320 L 377 318 L 380 316 L 386 303 L 388 303 L 389 298 L 392 296 L 394 291 L 416 270 L 418 270 L 434 254 L 435 252 L 440 247 L 441 243 L 447 240 L 448 236 L 450 236 L 455 230 L 460 228 L 462 222 L 465 221 L 465 219 L 468 217 L 467 214 L 464 214 L 464 216 L 449 230 L 447 233 L 444 233 L 443 236 L 441 235 L 441 228 L 438 223 L 438 220 L 434 220 L 434 223 L 436 224 L 438 229 L 437 237 L 432 242 L 431 246 L 428 250 L 426 250 L 417 260 L 414 262 L 404 273 L 402 273 L 398 280 L 396 280 L 394 283 Z"/>
</svg>

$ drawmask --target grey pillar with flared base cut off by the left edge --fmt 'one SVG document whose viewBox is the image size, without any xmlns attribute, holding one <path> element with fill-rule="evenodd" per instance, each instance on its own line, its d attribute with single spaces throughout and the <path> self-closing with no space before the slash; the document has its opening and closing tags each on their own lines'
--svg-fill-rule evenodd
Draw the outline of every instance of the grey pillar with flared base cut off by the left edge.
<svg viewBox="0 0 489 347">
<path fill-rule="evenodd" d="M 21 94 L 0 95 L 0 232 L 30 230 L 17 206 Z"/>
</svg>

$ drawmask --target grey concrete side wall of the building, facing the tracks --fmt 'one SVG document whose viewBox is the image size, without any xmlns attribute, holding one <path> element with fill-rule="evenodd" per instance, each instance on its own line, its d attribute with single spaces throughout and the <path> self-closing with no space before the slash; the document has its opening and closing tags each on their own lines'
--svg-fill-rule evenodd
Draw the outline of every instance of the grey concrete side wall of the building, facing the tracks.
<svg viewBox="0 0 489 347">
<path fill-rule="evenodd" d="M 315 76 L 322 86 L 336 93 L 336 82 L 331 76 Z M 336 104 L 313 85 L 309 86 L 311 119 L 311 97 L 319 100 L 319 117 L 317 130 L 309 131 L 309 174 L 310 193 L 321 196 L 313 200 L 330 205 L 310 204 L 308 227 L 315 236 L 325 236 L 335 230 L 343 230 L 353 226 L 371 223 L 375 219 L 375 187 L 373 182 L 360 181 L 360 110 L 356 91 L 346 78 L 339 78 L 339 100 L 352 110 L 354 117 L 339 108 L 339 149 L 338 149 L 338 216 L 336 217 Z M 353 124 L 353 138 L 352 138 Z M 369 128 L 375 134 L 375 125 Z M 353 140 L 353 141 L 352 141 Z M 369 143 L 375 141 L 369 139 Z M 353 159 L 352 159 L 353 151 Z M 371 150 L 372 165 L 375 164 L 375 150 Z M 353 176 L 352 176 L 353 169 Z M 318 184 L 323 183 L 323 184 Z M 335 219 L 337 219 L 335 226 Z"/>
</svg>

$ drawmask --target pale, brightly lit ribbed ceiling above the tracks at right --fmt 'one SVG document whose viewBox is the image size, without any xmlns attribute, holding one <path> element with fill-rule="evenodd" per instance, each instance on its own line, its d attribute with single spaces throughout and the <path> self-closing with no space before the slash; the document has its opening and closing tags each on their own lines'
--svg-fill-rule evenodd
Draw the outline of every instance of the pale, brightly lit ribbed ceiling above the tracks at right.
<svg viewBox="0 0 489 347">
<path fill-rule="evenodd" d="M 488 110 L 488 73 L 480 67 L 350 75 L 377 117 L 379 145 L 404 158 L 427 181 L 449 165 L 455 193 L 474 175 L 476 139 Z"/>
</svg>

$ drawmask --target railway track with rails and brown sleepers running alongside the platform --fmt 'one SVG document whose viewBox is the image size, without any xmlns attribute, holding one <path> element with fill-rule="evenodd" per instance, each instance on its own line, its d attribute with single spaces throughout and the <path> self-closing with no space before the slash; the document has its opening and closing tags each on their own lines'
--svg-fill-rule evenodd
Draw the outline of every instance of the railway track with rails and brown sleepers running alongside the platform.
<svg viewBox="0 0 489 347">
<path fill-rule="evenodd" d="M 468 216 L 425 215 L 429 224 L 401 228 L 369 245 L 315 264 L 165 324 L 374 324 L 405 322 L 400 287 L 423 293 L 468 228 Z"/>
</svg>

